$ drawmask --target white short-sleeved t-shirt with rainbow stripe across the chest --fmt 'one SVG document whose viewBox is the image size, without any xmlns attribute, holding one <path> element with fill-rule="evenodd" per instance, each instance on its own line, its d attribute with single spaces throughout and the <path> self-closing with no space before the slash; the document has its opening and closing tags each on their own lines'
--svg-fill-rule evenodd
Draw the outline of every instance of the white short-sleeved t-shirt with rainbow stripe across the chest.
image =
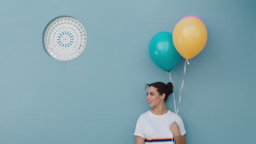
<svg viewBox="0 0 256 144">
<path fill-rule="evenodd" d="M 182 118 L 168 110 L 164 115 L 155 115 L 151 111 L 147 111 L 139 116 L 135 136 L 141 136 L 145 139 L 145 143 L 173 143 L 173 135 L 170 126 L 176 122 L 179 126 L 181 135 L 186 133 Z"/>
</svg>

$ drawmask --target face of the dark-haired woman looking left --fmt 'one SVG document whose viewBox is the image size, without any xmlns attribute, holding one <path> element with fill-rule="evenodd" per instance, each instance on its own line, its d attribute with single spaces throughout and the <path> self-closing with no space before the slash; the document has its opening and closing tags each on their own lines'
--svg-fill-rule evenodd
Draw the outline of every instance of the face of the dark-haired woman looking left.
<svg viewBox="0 0 256 144">
<path fill-rule="evenodd" d="M 150 107 L 158 106 L 161 100 L 164 100 L 164 94 L 159 95 L 157 88 L 151 86 L 148 88 L 147 100 Z"/>
</svg>

